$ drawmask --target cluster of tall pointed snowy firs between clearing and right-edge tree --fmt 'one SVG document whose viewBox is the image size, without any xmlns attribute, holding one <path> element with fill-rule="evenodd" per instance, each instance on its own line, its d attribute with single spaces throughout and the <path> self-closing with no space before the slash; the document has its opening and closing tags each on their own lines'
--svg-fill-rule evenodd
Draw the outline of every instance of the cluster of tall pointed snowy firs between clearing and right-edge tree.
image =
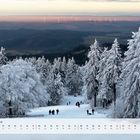
<svg viewBox="0 0 140 140">
<path fill-rule="evenodd" d="M 84 66 L 84 91 L 93 106 L 103 107 L 116 101 L 116 85 L 121 73 L 122 58 L 117 39 L 112 48 L 101 50 L 98 42 L 90 46 L 89 61 Z"/>
</svg>

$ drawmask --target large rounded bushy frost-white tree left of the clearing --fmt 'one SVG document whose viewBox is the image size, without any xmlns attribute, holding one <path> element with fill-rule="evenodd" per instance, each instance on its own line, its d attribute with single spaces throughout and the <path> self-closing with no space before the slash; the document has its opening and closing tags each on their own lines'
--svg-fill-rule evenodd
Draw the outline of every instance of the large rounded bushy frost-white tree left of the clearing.
<svg viewBox="0 0 140 140">
<path fill-rule="evenodd" d="M 0 79 L 1 114 L 18 116 L 29 108 L 47 105 L 49 95 L 30 62 L 19 59 L 1 66 Z"/>
</svg>

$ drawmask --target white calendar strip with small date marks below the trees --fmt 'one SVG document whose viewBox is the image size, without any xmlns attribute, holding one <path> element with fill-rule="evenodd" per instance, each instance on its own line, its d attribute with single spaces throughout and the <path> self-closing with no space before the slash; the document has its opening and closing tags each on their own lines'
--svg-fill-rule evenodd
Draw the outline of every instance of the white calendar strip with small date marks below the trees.
<svg viewBox="0 0 140 140">
<path fill-rule="evenodd" d="M 0 119 L 0 134 L 140 134 L 140 119 Z"/>
</svg>

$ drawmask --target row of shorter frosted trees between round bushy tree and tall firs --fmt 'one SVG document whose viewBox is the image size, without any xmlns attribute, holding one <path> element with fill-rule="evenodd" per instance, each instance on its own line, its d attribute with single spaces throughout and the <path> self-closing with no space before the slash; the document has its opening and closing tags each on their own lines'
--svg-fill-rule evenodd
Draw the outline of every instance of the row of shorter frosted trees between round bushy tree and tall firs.
<svg viewBox="0 0 140 140">
<path fill-rule="evenodd" d="M 41 81 L 46 86 L 50 95 L 50 105 L 58 105 L 65 95 L 80 95 L 82 88 L 82 77 L 80 67 L 74 58 L 63 57 L 54 59 L 53 63 L 44 57 L 25 59 L 31 62 L 41 75 Z"/>
</svg>

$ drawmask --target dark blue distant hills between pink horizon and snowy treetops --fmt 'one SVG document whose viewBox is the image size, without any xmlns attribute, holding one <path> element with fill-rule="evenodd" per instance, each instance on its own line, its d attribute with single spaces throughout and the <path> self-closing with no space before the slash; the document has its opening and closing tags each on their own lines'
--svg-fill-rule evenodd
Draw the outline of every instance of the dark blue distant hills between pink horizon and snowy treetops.
<svg viewBox="0 0 140 140">
<path fill-rule="evenodd" d="M 74 23 L 1 23 L 0 45 L 8 56 L 41 56 L 49 58 L 66 55 L 84 61 L 90 41 L 96 38 L 100 46 L 110 47 L 118 38 L 122 50 L 127 49 L 131 32 L 139 22 L 74 22 Z"/>
</svg>

